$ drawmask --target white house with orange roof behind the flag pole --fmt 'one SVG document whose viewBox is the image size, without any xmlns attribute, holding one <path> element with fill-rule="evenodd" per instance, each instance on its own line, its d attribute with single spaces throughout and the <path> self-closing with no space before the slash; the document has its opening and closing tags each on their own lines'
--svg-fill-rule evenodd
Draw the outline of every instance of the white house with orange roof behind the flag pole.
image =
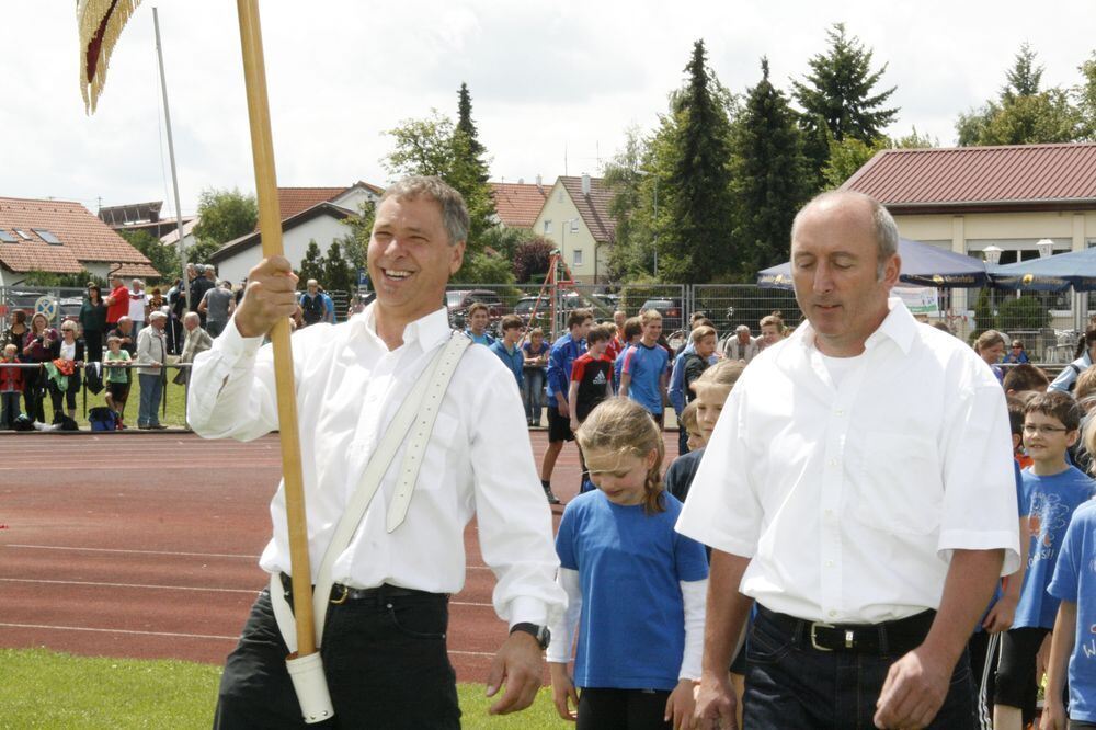
<svg viewBox="0 0 1096 730">
<path fill-rule="evenodd" d="M 310 241 L 315 240 L 326 255 L 332 241 L 350 233 L 342 221 L 356 215 L 362 204 L 379 201 L 384 192 L 361 181 L 350 187 L 278 187 L 282 247 L 294 269 L 300 267 Z M 250 233 L 226 242 L 203 263 L 216 265 L 220 278 L 237 284 L 261 260 L 262 236 L 256 226 Z"/>
</svg>

